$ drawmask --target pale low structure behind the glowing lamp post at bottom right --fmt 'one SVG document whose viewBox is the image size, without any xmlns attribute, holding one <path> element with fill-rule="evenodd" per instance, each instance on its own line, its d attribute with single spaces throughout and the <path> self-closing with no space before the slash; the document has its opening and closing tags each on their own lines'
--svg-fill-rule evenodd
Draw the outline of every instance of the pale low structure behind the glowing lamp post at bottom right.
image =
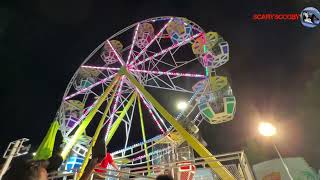
<svg viewBox="0 0 320 180">
<path fill-rule="evenodd" d="M 317 172 L 302 157 L 284 158 L 294 180 L 320 180 Z M 290 180 L 280 159 L 253 165 L 257 180 Z"/>
</svg>

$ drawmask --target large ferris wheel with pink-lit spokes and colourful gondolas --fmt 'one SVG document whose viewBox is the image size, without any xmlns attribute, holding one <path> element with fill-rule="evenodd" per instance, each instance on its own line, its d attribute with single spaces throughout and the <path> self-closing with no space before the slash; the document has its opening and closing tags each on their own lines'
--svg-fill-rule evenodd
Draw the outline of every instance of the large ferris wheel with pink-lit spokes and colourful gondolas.
<svg viewBox="0 0 320 180">
<path fill-rule="evenodd" d="M 143 20 L 105 40 L 72 77 L 57 113 L 62 157 L 78 163 L 66 170 L 86 163 L 98 138 L 126 168 L 154 164 L 185 141 L 208 153 L 199 124 L 235 113 L 230 83 L 215 71 L 228 60 L 218 33 L 181 17 Z M 181 111 L 179 98 L 188 101 Z"/>
</svg>

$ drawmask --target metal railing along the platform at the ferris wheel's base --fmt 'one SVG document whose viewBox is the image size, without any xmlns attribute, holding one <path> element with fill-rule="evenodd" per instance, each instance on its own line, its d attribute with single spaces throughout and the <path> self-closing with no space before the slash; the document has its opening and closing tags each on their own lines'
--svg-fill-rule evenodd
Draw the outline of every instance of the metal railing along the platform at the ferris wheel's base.
<svg viewBox="0 0 320 180">
<path fill-rule="evenodd" d="M 216 160 L 219 161 L 223 166 L 215 168 L 226 168 L 236 180 L 254 180 L 251 167 L 247 161 L 246 155 L 243 151 L 220 154 L 215 156 Z M 188 166 L 195 167 L 193 176 L 188 176 L 186 179 L 195 180 L 220 180 L 221 178 L 214 173 L 208 166 L 209 157 L 207 158 L 195 158 L 193 160 L 188 160 Z M 107 169 L 106 173 L 103 174 L 92 174 L 91 179 L 106 179 L 106 180 L 117 180 L 117 179 L 155 179 L 157 175 L 160 174 L 170 174 L 174 179 L 183 180 L 184 178 L 179 175 L 179 170 L 182 167 L 186 167 L 186 161 L 170 162 L 168 164 L 161 164 L 155 166 L 149 166 L 150 171 L 147 166 L 126 168 L 122 166 L 121 171 L 116 171 L 113 169 Z M 119 176 L 121 174 L 121 176 Z M 62 174 L 59 172 L 55 174 L 50 174 L 50 180 L 71 180 L 76 179 L 76 173 Z"/>
</svg>

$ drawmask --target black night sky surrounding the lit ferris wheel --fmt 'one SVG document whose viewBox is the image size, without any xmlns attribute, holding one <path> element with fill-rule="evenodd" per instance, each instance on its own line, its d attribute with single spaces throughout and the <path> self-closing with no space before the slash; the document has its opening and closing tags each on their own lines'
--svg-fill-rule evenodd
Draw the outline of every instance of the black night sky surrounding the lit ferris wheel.
<svg viewBox="0 0 320 180">
<path fill-rule="evenodd" d="M 240 150 L 254 138 L 256 118 L 275 118 L 286 129 L 284 155 L 303 156 L 299 121 L 292 109 L 305 81 L 319 68 L 320 27 L 296 22 L 254 22 L 254 13 L 299 13 L 319 1 L 1 1 L 0 153 L 27 137 L 39 143 L 64 90 L 84 58 L 118 30 L 149 17 L 187 17 L 219 32 L 230 44 L 225 73 L 232 79 L 237 115 L 231 123 L 206 127 L 213 152 Z M 280 120 L 281 119 L 281 120 Z M 297 123 L 298 122 L 298 123 Z M 290 134 L 291 133 L 291 134 Z M 290 134 L 290 136 L 289 136 Z M 294 138 L 294 141 L 290 141 Z M 320 159 L 319 159 L 320 160 Z M 320 166 L 315 165 L 318 168 Z"/>
</svg>

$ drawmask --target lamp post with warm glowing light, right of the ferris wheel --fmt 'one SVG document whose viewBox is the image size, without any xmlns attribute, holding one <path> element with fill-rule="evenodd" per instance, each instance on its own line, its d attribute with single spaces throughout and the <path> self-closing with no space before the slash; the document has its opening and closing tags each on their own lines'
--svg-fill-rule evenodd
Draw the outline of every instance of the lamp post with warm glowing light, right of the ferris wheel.
<svg viewBox="0 0 320 180">
<path fill-rule="evenodd" d="M 276 133 L 277 133 L 277 129 L 271 124 L 271 123 L 268 123 L 268 122 L 262 122 L 260 123 L 259 125 L 259 132 L 262 136 L 266 136 L 266 137 L 272 137 L 274 136 Z M 273 147 L 274 149 L 276 150 L 281 162 L 282 162 L 282 165 L 284 167 L 284 169 L 287 171 L 288 173 L 288 176 L 290 178 L 290 180 L 293 180 L 291 174 L 290 174 L 290 171 L 289 171 L 289 168 L 288 166 L 286 165 L 286 163 L 284 162 L 276 144 L 272 141 L 272 144 L 273 144 Z"/>
</svg>

